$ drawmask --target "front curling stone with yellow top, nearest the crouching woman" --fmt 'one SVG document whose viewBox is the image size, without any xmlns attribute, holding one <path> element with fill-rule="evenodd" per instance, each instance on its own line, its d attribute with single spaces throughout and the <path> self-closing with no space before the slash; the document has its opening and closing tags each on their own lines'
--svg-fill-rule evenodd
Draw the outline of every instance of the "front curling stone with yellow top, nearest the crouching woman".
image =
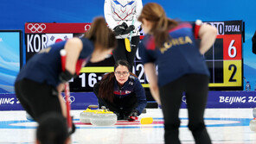
<svg viewBox="0 0 256 144">
<path fill-rule="evenodd" d="M 94 111 L 91 117 L 91 123 L 94 126 L 112 126 L 118 121 L 118 117 L 112 111 L 106 110 L 106 107 L 101 107 L 102 110 Z"/>
</svg>

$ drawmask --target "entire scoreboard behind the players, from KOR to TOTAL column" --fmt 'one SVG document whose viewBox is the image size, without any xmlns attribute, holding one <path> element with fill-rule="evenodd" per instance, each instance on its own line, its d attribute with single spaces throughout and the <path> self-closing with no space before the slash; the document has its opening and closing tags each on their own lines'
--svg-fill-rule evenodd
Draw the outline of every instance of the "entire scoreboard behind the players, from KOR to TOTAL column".
<svg viewBox="0 0 256 144">
<path fill-rule="evenodd" d="M 205 53 L 210 78 L 210 90 L 242 90 L 242 39 L 244 24 L 242 21 L 207 22 L 218 29 L 217 39 Z M 25 23 L 26 60 L 45 47 L 69 38 L 80 36 L 90 28 L 90 23 Z M 143 37 L 143 33 L 141 33 Z M 114 59 L 99 63 L 88 63 L 80 71 L 80 76 L 70 81 L 70 91 L 93 91 L 93 85 L 101 80 L 106 72 L 113 72 Z M 144 88 L 149 87 L 144 74 L 141 57 L 136 53 L 133 73 L 138 76 Z"/>
</svg>

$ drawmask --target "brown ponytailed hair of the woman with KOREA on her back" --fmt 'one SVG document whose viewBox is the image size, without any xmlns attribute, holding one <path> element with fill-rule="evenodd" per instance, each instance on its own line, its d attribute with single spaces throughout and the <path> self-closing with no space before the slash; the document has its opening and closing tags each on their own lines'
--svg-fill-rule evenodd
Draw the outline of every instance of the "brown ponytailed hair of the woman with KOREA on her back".
<svg viewBox="0 0 256 144">
<path fill-rule="evenodd" d="M 143 18 L 153 24 L 150 33 L 153 34 L 157 47 L 163 47 L 164 42 L 170 41 L 169 30 L 178 25 L 178 22 L 166 16 L 163 7 L 157 3 L 144 5 L 138 21 L 142 22 Z"/>
</svg>

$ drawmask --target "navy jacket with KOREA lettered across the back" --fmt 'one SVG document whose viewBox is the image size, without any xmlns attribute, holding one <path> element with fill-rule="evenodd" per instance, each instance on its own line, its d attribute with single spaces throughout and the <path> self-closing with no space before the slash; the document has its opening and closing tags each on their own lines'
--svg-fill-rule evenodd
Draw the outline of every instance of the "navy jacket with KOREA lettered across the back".
<svg viewBox="0 0 256 144">
<path fill-rule="evenodd" d="M 142 63 L 156 63 L 158 85 L 167 85 L 185 74 L 197 73 L 209 76 L 208 67 L 195 42 L 193 27 L 181 23 L 169 31 L 171 40 L 157 48 L 153 36 L 145 35 L 138 50 Z"/>
</svg>

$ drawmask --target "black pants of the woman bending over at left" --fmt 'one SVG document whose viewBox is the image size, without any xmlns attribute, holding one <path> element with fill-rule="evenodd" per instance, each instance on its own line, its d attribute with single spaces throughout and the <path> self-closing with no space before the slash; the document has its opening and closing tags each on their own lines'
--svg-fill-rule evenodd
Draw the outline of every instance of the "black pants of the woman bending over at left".
<svg viewBox="0 0 256 144">
<path fill-rule="evenodd" d="M 51 85 L 36 83 L 29 79 L 22 79 L 15 84 L 16 97 L 35 121 L 48 112 L 62 115 L 58 92 Z"/>
</svg>

